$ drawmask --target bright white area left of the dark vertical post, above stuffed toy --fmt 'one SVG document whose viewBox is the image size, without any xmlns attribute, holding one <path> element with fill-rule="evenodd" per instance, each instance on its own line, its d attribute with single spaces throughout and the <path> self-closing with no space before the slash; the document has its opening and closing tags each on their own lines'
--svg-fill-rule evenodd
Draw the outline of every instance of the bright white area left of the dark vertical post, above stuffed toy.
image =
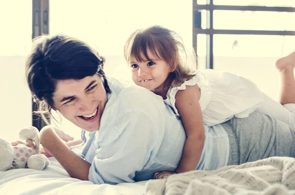
<svg viewBox="0 0 295 195">
<path fill-rule="evenodd" d="M 15 140 L 31 125 L 25 55 L 31 43 L 31 1 L 0 1 L 0 137 Z"/>
</svg>

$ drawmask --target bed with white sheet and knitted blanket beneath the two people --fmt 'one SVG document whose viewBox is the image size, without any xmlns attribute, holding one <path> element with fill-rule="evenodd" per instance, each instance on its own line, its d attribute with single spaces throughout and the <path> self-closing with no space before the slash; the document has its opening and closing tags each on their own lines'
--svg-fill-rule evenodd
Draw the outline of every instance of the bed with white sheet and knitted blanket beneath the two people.
<svg viewBox="0 0 295 195">
<path fill-rule="evenodd" d="M 118 185 L 71 178 L 54 158 L 50 161 L 44 171 L 0 172 L 0 195 L 295 195 L 295 158 L 291 157 Z"/>
</svg>

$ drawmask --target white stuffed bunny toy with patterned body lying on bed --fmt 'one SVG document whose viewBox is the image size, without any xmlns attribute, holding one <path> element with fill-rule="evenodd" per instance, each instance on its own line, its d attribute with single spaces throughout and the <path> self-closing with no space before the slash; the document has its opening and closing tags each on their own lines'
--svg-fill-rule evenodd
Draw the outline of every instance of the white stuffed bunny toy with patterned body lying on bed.
<svg viewBox="0 0 295 195">
<path fill-rule="evenodd" d="M 49 165 L 48 158 L 39 153 L 39 131 L 36 127 L 20 130 L 19 138 L 31 139 L 35 143 L 35 149 L 21 141 L 17 141 L 17 146 L 12 146 L 7 140 L 0 139 L 0 171 L 23 168 L 43 170 Z"/>
</svg>

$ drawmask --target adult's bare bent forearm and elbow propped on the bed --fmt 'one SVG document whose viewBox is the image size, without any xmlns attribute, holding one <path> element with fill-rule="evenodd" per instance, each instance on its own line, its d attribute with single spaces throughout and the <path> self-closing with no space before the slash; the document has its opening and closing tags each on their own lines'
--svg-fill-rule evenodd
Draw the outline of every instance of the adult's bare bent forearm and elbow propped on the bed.
<svg viewBox="0 0 295 195">
<path fill-rule="evenodd" d="M 71 177 L 89 180 L 89 168 L 91 164 L 75 154 L 59 138 L 52 126 L 45 126 L 40 131 L 40 142 L 59 161 L 60 165 Z"/>
</svg>

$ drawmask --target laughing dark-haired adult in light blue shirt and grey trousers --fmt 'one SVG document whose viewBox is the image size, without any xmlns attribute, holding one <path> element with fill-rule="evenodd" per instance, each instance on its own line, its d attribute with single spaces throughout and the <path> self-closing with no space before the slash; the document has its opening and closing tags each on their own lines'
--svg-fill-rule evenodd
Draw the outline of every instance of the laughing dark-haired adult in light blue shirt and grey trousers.
<svg viewBox="0 0 295 195">
<path fill-rule="evenodd" d="M 154 172 L 175 171 L 186 139 L 181 121 L 161 97 L 106 77 L 103 62 L 95 50 L 71 37 L 42 36 L 34 41 L 26 74 L 40 112 L 58 110 L 84 129 L 80 156 L 53 126 L 41 130 L 43 147 L 71 177 L 96 184 L 147 180 Z M 212 145 L 204 147 L 198 169 L 295 156 L 294 129 L 265 115 L 254 113 L 204 128 L 205 142 Z"/>
</svg>

